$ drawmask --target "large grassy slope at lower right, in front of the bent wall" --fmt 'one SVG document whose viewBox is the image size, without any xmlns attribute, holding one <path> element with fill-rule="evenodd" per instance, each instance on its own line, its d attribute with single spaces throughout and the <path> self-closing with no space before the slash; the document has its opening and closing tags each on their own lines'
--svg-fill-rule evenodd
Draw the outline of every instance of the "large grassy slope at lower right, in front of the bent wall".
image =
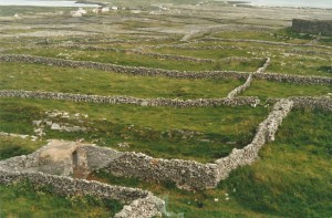
<svg viewBox="0 0 332 218">
<path fill-rule="evenodd" d="M 330 112 L 293 111 L 260 158 L 232 172 L 216 189 L 189 193 L 172 183 L 145 183 L 104 170 L 90 179 L 149 189 L 166 196 L 167 211 L 190 218 L 331 217 L 331 122 Z"/>
</svg>

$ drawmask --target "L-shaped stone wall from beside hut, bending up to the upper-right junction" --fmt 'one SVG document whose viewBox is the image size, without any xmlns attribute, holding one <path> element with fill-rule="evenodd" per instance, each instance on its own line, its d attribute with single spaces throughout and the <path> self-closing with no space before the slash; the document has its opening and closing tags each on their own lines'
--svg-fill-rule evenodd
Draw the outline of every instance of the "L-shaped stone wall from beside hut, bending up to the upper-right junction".
<svg viewBox="0 0 332 218">
<path fill-rule="evenodd" d="M 170 180 L 185 189 L 214 188 L 221 179 L 227 178 L 231 170 L 255 162 L 264 143 L 274 139 L 274 133 L 292 106 L 293 102 L 289 100 L 277 102 L 267 120 L 258 126 L 257 134 L 249 145 L 243 149 L 234 149 L 229 156 L 215 163 L 200 164 L 153 158 L 141 153 L 125 153 L 111 162 L 107 168 L 110 173 L 118 176 L 137 177 L 144 180 Z"/>
</svg>

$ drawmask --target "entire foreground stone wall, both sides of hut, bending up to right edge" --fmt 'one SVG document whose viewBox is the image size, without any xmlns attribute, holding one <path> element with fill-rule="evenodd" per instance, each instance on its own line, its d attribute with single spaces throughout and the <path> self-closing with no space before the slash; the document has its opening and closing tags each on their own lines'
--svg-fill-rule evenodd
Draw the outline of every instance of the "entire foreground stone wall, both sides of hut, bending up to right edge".
<svg viewBox="0 0 332 218">
<path fill-rule="evenodd" d="M 251 143 L 242 149 L 235 148 L 229 156 L 217 159 L 215 163 L 201 164 L 194 160 L 154 158 L 142 153 L 117 152 L 93 145 L 82 145 L 77 149 L 84 150 L 80 154 L 84 154 L 82 158 L 85 158 L 85 162 L 82 163 L 86 163 L 89 172 L 105 168 L 118 176 L 174 181 L 179 188 L 189 190 L 214 188 L 221 179 L 226 179 L 231 170 L 250 165 L 258 158 L 260 148 L 266 142 L 274 139 L 276 132 L 293 106 L 332 111 L 330 97 L 291 97 L 276 101 L 268 117 L 259 124 Z M 31 167 L 29 170 L 39 170 L 35 169 L 39 163 L 34 159 L 35 157 L 31 154 L 2 160 L 0 169 L 11 168 L 23 172 L 22 168 Z"/>
</svg>

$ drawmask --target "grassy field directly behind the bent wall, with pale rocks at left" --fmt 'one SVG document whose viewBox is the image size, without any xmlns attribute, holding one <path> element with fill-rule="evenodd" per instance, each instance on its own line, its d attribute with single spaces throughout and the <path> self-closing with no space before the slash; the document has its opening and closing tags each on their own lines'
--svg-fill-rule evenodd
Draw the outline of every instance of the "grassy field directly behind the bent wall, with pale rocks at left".
<svg viewBox="0 0 332 218">
<path fill-rule="evenodd" d="M 32 122 L 48 118 L 45 111 L 66 111 L 72 115 L 87 114 L 89 118 L 52 121 L 87 131 L 66 133 L 46 127 L 44 139 L 84 138 L 117 149 L 118 143 L 127 142 L 131 147 L 123 150 L 200 162 L 217 159 L 234 147 L 246 146 L 268 113 L 262 106 L 174 108 L 22 98 L 1 98 L 0 107 L 0 131 L 3 132 L 33 135 Z"/>
</svg>

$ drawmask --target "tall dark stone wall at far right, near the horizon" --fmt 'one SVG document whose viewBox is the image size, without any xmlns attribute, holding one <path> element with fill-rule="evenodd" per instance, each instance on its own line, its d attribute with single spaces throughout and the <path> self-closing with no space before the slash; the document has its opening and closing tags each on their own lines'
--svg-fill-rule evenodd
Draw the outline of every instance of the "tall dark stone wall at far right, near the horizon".
<svg viewBox="0 0 332 218">
<path fill-rule="evenodd" d="M 332 20 L 292 20 L 292 30 L 301 33 L 332 35 Z"/>
</svg>

